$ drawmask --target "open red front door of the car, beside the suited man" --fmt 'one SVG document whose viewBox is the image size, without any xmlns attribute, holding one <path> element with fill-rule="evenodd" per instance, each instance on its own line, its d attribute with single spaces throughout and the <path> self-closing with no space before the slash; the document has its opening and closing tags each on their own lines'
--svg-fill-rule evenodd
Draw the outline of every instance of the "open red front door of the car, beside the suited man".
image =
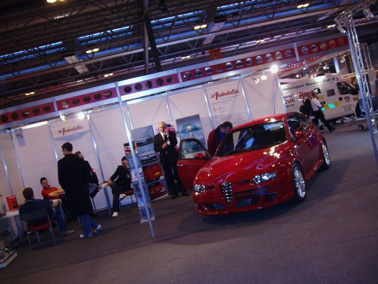
<svg viewBox="0 0 378 284">
<path fill-rule="evenodd" d="M 204 144 L 195 138 L 182 139 L 178 150 L 177 169 L 180 180 L 187 191 L 193 191 L 194 179 L 211 155 Z"/>
</svg>

